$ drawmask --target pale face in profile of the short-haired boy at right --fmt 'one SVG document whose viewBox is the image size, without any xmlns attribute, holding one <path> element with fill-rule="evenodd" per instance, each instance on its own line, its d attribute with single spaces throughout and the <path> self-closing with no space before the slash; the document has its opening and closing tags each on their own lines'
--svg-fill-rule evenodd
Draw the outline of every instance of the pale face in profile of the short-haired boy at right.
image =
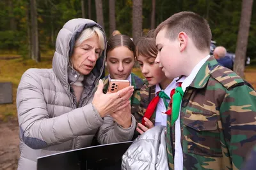
<svg viewBox="0 0 256 170">
<path fill-rule="evenodd" d="M 182 69 L 182 56 L 180 55 L 180 43 L 178 40 L 171 41 L 165 37 L 166 29 L 162 29 L 156 36 L 157 58 L 167 78 L 173 79 L 180 76 Z"/>
</svg>

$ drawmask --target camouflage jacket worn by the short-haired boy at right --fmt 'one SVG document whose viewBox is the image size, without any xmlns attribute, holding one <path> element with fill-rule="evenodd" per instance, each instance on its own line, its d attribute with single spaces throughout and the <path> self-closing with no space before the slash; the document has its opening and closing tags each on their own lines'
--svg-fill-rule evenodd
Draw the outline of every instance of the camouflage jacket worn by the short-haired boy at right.
<svg viewBox="0 0 256 170">
<path fill-rule="evenodd" d="M 183 169 L 241 169 L 256 144 L 255 118 L 256 92 L 210 57 L 182 99 Z M 170 128 L 174 157 L 175 125 Z"/>
</svg>

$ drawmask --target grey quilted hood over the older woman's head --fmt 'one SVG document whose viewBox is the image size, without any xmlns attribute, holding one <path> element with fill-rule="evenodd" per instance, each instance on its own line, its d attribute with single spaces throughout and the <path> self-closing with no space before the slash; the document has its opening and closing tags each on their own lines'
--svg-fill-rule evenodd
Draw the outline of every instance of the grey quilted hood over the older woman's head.
<svg viewBox="0 0 256 170">
<path fill-rule="evenodd" d="M 93 20 L 76 18 L 69 20 L 65 25 L 63 25 L 63 28 L 58 33 L 56 39 L 56 51 L 52 60 L 52 69 L 63 87 L 65 87 L 67 90 L 69 89 L 68 62 L 69 57 L 72 55 L 74 44 L 84 29 L 94 26 L 99 27 L 102 30 L 105 39 L 105 49 L 103 50 L 91 72 L 93 76 L 95 76 L 95 81 L 99 81 L 104 69 L 104 61 L 106 56 L 106 36 L 102 27 Z"/>
</svg>

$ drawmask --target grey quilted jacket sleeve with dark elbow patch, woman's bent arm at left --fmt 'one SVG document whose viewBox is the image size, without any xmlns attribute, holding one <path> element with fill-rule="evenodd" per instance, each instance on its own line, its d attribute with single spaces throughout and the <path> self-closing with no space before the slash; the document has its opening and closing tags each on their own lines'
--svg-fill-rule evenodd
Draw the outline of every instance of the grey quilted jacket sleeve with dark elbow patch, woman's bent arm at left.
<svg viewBox="0 0 256 170">
<path fill-rule="evenodd" d="M 45 148 L 90 134 L 103 124 L 92 104 L 49 118 L 38 77 L 33 69 L 28 69 L 22 75 L 17 89 L 20 138 L 26 145 L 33 149 Z"/>
</svg>

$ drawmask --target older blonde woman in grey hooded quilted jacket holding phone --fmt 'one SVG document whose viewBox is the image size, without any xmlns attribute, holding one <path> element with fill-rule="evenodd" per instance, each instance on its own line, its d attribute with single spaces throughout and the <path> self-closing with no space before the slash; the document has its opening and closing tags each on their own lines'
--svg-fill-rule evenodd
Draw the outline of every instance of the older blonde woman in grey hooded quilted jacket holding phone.
<svg viewBox="0 0 256 170">
<path fill-rule="evenodd" d="M 90 146 L 103 118 L 131 109 L 133 87 L 103 94 L 106 38 L 99 24 L 77 18 L 58 34 L 52 69 L 28 69 L 17 90 L 20 125 L 18 169 L 36 169 L 36 158 Z M 97 91 L 95 86 L 99 82 Z M 135 120 L 107 135 L 113 141 L 132 138 Z"/>
</svg>

